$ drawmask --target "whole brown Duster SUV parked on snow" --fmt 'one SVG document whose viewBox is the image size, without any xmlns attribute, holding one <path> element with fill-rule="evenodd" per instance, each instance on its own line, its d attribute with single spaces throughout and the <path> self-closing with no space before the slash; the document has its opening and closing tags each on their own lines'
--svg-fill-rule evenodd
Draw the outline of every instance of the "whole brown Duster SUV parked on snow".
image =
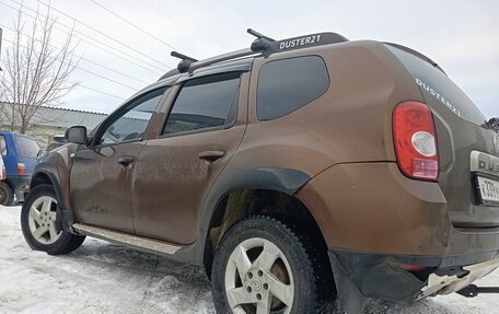
<svg viewBox="0 0 499 314">
<path fill-rule="evenodd" d="M 207 60 L 37 164 L 34 249 L 85 235 L 202 265 L 220 313 L 410 303 L 499 266 L 497 125 L 433 61 L 334 33 Z"/>
</svg>

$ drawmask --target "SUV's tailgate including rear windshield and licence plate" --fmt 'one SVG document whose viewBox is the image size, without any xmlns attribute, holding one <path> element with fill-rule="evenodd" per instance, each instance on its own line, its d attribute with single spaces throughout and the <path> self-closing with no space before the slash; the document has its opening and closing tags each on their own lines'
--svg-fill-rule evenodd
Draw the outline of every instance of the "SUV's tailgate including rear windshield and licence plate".
<svg viewBox="0 0 499 314">
<path fill-rule="evenodd" d="M 456 228 L 499 226 L 499 137 L 468 96 L 431 60 L 386 44 L 433 112 L 439 149 L 438 184 Z"/>
</svg>

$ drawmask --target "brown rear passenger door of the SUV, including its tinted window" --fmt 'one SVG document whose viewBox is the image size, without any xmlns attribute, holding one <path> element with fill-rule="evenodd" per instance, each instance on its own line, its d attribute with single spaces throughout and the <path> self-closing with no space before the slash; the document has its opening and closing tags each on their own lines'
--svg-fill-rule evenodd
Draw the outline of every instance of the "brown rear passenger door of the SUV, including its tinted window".
<svg viewBox="0 0 499 314">
<path fill-rule="evenodd" d="M 237 71 L 193 78 L 175 88 L 162 133 L 146 143 L 136 165 L 139 235 L 195 241 L 204 200 L 243 138 L 247 88 L 247 73 Z"/>
</svg>

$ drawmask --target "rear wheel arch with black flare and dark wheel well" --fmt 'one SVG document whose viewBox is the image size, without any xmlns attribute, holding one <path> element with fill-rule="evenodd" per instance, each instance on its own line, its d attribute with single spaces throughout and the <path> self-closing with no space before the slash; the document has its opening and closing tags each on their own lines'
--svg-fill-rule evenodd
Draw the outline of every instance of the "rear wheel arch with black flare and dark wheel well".
<svg viewBox="0 0 499 314">
<path fill-rule="evenodd" d="M 304 172 L 283 167 L 241 170 L 219 178 L 205 202 L 201 218 L 201 263 L 208 275 L 218 242 L 243 217 L 255 213 L 290 216 L 310 221 L 320 232 L 312 212 L 297 197 L 310 179 Z"/>
</svg>

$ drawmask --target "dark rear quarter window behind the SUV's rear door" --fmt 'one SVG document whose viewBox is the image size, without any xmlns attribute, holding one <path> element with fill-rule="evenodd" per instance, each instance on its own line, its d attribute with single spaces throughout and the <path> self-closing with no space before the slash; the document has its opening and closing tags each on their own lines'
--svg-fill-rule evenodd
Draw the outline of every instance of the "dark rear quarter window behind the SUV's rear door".
<svg viewBox="0 0 499 314">
<path fill-rule="evenodd" d="M 259 120 L 286 116 L 321 97 L 329 75 L 321 57 L 270 61 L 259 72 L 256 114 Z"/>
</svg>

